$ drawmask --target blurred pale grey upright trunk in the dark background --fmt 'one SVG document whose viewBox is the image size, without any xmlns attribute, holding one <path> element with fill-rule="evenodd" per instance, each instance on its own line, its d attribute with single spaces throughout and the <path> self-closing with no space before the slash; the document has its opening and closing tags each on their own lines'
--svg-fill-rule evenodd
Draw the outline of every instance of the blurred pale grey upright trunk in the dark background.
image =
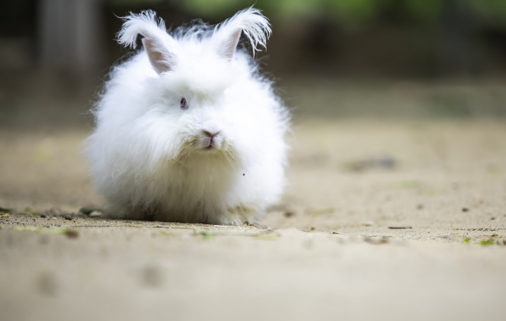
<svg viewBox="0 0 506 321">
<path fill-rule="evenodd" d="M 40 0 L 38 43 L 44 70 L 79 78 L 102 67 L 101 6 L 101 0 Z"/>
</svg>

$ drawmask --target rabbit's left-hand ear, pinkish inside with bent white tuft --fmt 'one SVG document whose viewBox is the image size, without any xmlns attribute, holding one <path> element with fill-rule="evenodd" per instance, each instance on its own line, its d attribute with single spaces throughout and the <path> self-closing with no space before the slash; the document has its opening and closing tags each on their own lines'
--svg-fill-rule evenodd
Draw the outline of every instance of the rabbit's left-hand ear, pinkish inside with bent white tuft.
<svg viewBox="0 0 506 321">
<path fill-rule="evenodd" d="M 117 34 L 117 41 L 135 49 L 137 36 L 142 35 L 142 43 L 153 69 L 158 74 L 171 70 L 176 59 L 169 48 L 176 48 L 176 41 L 166 32 L 163 20 L 157 21 L 156 13 L 151 10 L 131 13 L 122 19 L 123 27 Z"/>
</svg>

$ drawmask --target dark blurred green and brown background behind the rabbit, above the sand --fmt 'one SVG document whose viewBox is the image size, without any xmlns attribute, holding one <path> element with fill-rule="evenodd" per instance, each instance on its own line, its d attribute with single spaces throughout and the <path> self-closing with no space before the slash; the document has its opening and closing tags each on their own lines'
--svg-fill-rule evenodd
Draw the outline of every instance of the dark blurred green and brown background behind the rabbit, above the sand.
<svg viewBox="0 0 506 321">
<path fill-rule="evenodd" d="M 0 4 L 3 127 L 91 126 L 116 16 L 170 28 L 251 5 L 273 35 L 259 55 L 298 117 L 506 116 L 504 0 L 18 0 Z"/>
</svg>

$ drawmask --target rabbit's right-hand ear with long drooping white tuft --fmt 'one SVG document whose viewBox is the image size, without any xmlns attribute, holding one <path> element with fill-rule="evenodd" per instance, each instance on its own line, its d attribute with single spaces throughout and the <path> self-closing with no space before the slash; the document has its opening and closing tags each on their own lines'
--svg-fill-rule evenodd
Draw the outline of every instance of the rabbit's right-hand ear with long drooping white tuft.
<svg viewBox="0 0 506 321">
<path fill-rule="evenodd" d="M 218 53 L 224 58 L 234 56 L 241 33 L 248 38 L 255 56 L 258 45 L 266 48 L 267 39 L 271 35 L 269 21 L 260 10 L 249 7 L 236 13 L 232 18 L 215 27 L 213 38 L 218 43 Z"/>
</svg>

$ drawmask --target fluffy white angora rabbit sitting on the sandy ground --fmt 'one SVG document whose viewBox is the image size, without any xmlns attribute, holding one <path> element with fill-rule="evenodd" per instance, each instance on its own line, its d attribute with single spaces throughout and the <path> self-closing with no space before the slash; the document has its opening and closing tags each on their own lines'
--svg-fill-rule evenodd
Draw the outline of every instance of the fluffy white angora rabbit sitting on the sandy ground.
<svg viewBox="0 0 506 321">
<path fill-rule="evenodd" d="M 85 154 L 111 218 L 242 224 L 285 185 L 289 113 L 246 50 L 271 29 L 248 8 L 167 33 L 152 11 L 123 18 L 118 42 L 143 49 L 116 66 L 93 111 Z"/>
</svg>

